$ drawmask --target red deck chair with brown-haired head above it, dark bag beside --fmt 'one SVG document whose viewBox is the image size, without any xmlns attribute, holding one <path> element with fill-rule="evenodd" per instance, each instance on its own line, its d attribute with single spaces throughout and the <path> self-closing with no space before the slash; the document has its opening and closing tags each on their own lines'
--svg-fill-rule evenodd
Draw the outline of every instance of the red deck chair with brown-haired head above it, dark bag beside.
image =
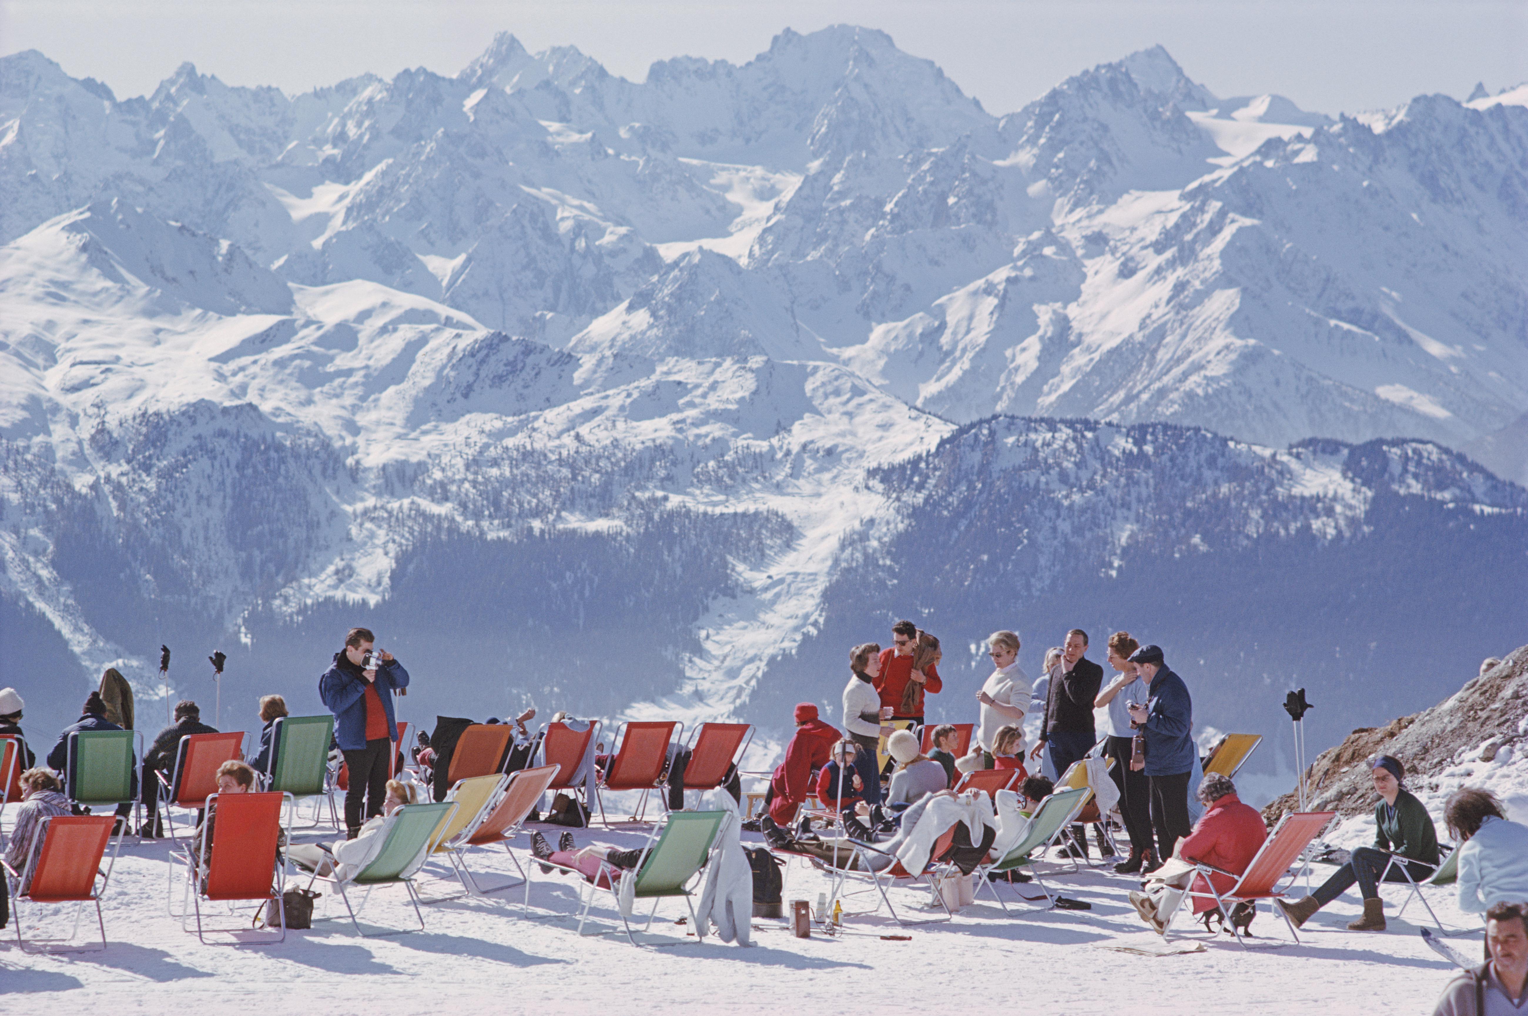
<svg viewBox="0 0 1528 1016">
<path fill-rule="evenodd" d="M 211 735 L 208 735 L 211 736 Z M 277 863 L 277 843 L 281 836 L 281 813 L 286 808 L 287 794 L 283 793 L 244 793 L 244 794 L 208 794 L 202 801 L 203 808 L 217 808 L 212 825 L 212 843 L 202 845 L 194 863 L 186 863 L 185 891 L 191 897 L 193 906 L 183 908 L 196 914 L 196 933 L 203 946 L 208 943 L 208 932 L 232 933 L 248 932 L 255 938 L 235 940 L 234 944 L 244 943 L 263 946 L 286 940 L 286 904 L 281 894 L 286 891 L 286 865 Z M 188 848 L 194 849 L 194 848 Z M 188 862 L 193 860 L 188 857 Z M 199 872 L 205 871 L 205 877 Z M 240 918 L 232 927 L 205 927 L 202 923 L 202 903 L 240 903 L 257 900 L 261 906 L 275 900 L 281 914 L 281 924 L 267 929 L 264 933 L 252 932 L 251 923 Z M 185 914 L 180 930 L 186 927 Z"/>
</svg>

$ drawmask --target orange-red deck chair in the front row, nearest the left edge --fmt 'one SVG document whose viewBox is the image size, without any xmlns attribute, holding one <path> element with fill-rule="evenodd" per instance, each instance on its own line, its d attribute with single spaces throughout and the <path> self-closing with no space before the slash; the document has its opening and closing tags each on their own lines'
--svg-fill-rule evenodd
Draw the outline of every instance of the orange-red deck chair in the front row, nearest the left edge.
<svg viewBox="0 0 1528 1016">
<path fill-rule="evenodd" d="M 101 917 L 101 894 L 105 891 L 107 871 L 101 871 L 101 859 L 107 843 L 116 839 L 122 849 L 122 837 L 112 836 L 110 814 L 66 814 L 43 819 L 32 834 L 32 845 L 20 871 L 5 866 L 6 891 L 11 894 L 11 920 L 15 921 L 15 941 L 23 952 L 101 952 L 105 949 L 105 920 Z M 116 860 L 113 853 L 112 860 Z M 101 885 L 96 886 L 96 878 Z M 21 891 L 23 883 L 26 891 Z M 73 927 L 63 938 L 32 937 L 31 947 L 21 932 L 21 900 L 29 903 L 75 903 Z M 96 926 L 101 929 L 101 949 L 70 946 L 79 932 L 79 914 L 86 903 L 95 903 Z"/>
</svg>

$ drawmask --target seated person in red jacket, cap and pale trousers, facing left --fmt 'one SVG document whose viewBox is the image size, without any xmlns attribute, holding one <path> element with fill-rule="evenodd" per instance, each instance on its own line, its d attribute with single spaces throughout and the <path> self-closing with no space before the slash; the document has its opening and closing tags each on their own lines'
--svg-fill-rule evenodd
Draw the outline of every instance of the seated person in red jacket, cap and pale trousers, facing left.
<svg viewBox="0 0 1528 1016">
<path fill-rule="evenodd" d="M 1236 796 L 1236 784 L 1230 776 L 1210 773 L 1199 781 L 1199 801 L 1204 804 L 1204 816 L 1193 827 L 1193 833 L 1178 840 L 1172 856 L 1175 865 L 1163 865 L 1158 874 L 1146 883 L 1146 892 L 1131 892 L 1131 904 L 1140 918 L 1151 924 L 1158 935 L 1166 933 L 1167 920 L 1178 909 L 1178 901 L 1193 878 L 1193 912 L 1204 915 L 1204 927 L 1210 929 L 1210 914 L 1219 914 L 1215 897 L 1204 875 L 1193 875 L 1195 863 L 1206 863 L 1229 875 L 1210 875 L 1216 892 L 1229 892 L 1236 878 L 1247 871 L 1247 865 L 1258 856 L 1262 842 L 1268 839 L 1268 827 L 1264 825 L 1258 810 L 1241 802 Z M 1206 895 L 1198 895 L 1198 894 Z M 1251 903 L 1238 903 L 1232 909 L 1232 923 L 1245 929 L 1256 914 Z"/>
</svg>

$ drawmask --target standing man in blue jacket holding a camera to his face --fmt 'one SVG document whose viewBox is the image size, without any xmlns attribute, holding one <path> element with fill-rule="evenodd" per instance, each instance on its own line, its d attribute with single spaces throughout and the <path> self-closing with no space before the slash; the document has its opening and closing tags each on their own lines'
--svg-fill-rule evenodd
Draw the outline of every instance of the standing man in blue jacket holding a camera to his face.
<svg viewBox="0 0 1528 1016">
<path fill-rule="evenodd" d="M 387 649 L 374 648 L 365 628 L 345 634 L 345 648 L 318 678 L 318 697 L 335 713 L 335 741 L 350 767 L 345 790 L 345 839 L 356 839 L 364 819 L 382 814 L 388 756 L 397 741 L 393 692 L 408 688 L 408 671 Z M 365 814 L 362 816 L 362 802 Z"/>
</svg>

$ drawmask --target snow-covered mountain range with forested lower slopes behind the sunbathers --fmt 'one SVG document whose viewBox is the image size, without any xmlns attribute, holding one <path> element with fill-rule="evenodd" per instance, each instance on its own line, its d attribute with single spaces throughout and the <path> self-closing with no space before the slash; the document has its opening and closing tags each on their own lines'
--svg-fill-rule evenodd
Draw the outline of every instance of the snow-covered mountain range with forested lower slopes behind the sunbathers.
<svg viewBox="0 0 1528 1016">
<path fill-rule="evenodd" d="M 999 118 L 857 28 L 295 98 L 0 58 L 0 683 L 63 721 L 219 643 L 303 701 L 370 620 L 422 721 L 773 724 L 917 616 L 957 674 L 1151 628 L 1219 727 L 1416 707 L 1522 640 L 1525 104 L 1331 119 L 1158 47 Z M 1433 633 L 1394 700 L 1380 631 Z"/>
</svg>

